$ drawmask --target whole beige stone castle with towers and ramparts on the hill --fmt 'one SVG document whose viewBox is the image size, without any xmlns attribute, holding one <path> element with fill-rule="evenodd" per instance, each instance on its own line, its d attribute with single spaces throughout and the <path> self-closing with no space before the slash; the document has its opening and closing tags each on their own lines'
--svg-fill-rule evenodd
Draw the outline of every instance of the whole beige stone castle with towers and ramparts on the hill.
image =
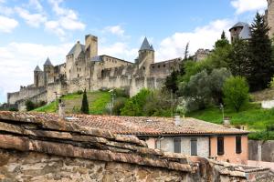
<svg viewBox="0 0 274 182">
<path fill-rule="evenodd" d="M 21 86 L 20 91 L 7 94 L 7 103 L 21 108 L 26 99 L 33 102 L 51 102 L 56 96 L 87 89 L 89 91 L 124 88 L 134 96 L 143 87 L 160 88 L 166 76 L 179 68 L 181 58 L 160 63 L 154 61 L 154 49 L 145 37 L 135 62 L 113 56 L 98 56 L 98 37 L 85 36 L 85 45 L 79 41 L 66 56 L 66 63 L 53 66 L 47 58 L 43 70 L 34 70 L 34 83 Z"/>
</svg>

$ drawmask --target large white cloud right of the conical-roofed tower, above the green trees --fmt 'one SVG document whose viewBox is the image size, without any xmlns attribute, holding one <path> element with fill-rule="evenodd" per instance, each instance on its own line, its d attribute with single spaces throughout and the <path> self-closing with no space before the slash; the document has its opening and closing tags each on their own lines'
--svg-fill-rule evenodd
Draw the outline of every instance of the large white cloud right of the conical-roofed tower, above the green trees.
<svg viewBox="0 0 274 182">
<path fill-rule="evenodd" d="M 184 55 L 184 47 L 189 42 L 189 52 L 194 54 L 199 48 L 212 49 L 216 40 L 220 38 L 223 30 L 226 32 L 233 25 L 233 22 L 227 19 L 216 20 L 209 25 L 195 28 L 194 32 L 178 32 L 166 37 L 156 50 L 156 61 L 163 61 Z M 227 38 L 229 34 L 227 32 Z"/>
</svg>

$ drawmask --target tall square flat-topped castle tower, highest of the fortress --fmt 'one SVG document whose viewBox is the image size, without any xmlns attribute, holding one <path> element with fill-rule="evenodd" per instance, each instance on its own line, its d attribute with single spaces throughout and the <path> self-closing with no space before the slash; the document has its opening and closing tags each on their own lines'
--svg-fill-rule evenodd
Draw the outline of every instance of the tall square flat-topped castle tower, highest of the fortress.
<svg viewBox="0 0 274 182">
<path fill-rule="evenodd" d="M 85 52 L 86 57 L 89 59 L 98 56 L 98 37 L 94 35 L 85 36 Z"/>
</svg>

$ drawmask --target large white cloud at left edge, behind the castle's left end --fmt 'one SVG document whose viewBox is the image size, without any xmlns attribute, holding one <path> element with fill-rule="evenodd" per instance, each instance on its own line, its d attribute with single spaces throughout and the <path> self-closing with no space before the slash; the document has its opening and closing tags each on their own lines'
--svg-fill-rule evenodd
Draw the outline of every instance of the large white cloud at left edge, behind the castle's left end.
<svg viewBox="0 0 274 182">
<path fill-rule="evenodd" d="M 65 62 L 65 56 L 73 44 L 39 45 L 32 43 L 10 43 L 0 46 L 0 102 L 7 92 L 14 92 L 19 86 L 33 83 L 33 70 L 39 64 L 43 69 L 49 56 L 52 64 Z M 3 94 L 5 93 L 5 94 Z M 1 97 L 2 96 L 2 97 Z"/>
</svg>

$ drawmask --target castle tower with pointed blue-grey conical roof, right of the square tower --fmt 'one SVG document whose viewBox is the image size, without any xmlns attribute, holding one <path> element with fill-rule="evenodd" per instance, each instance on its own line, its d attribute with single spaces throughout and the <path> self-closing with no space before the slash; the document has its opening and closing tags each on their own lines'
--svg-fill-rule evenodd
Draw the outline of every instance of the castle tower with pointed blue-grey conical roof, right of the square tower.
<svg viewBox="0 0 274 182">
<path fill-rule="evenodd" d="M 153 45 L 150 45 L 147 38 L 144 37 L 138 56 L 139 69 L 145 70 L 144 73 L 149 75 L 150 66 L 154 63 L 154 49 Z"/>
</svg>

